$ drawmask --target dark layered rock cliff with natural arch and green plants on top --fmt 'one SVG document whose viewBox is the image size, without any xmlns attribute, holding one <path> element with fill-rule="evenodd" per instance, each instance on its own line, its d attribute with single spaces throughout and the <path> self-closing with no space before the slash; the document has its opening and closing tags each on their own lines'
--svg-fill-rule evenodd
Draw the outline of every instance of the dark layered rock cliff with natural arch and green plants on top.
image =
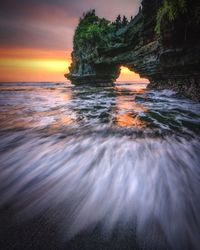
<svg viewBox="0 0 200 250">
<path fill-rule="evenodd" d="M 75 85 L 109 86 L 125 66 L 150 81 L 200 100 L 200 1 L 143 0 L 138 14 L 114 22 L 91 10 L 80 18 L 72 64 Z"/>
</svg>

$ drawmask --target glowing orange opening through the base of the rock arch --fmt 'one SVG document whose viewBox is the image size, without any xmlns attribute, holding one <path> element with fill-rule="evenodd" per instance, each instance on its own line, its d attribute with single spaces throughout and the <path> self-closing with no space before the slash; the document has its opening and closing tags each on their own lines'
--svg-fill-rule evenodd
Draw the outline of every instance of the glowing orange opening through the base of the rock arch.
<svg viewBox="0 0 200 250">
<path fill-rule="evenodd" d="M 120 67 L 120 75 L 117 78 L 117 82 L 134 82 L 134 83 L 149 83 L 146 78 L 141 78 L 139 74 L 129 70 L 125 66 Z"/>
</svg>

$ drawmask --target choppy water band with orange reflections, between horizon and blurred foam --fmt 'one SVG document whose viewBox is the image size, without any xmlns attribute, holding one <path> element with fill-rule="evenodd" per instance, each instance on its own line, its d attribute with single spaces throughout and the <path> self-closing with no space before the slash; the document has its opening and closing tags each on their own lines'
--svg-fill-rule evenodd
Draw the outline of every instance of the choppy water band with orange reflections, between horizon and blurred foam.
<svg viewBox="0 0 200 250">
<path fill-rule="evenodd" d="M 199 104 L 177 99 L 170 91 L 149 92 L 145 84 L 109 88 L 21 85 L 0 87 L 0 130 L 103 125 L 199 133 Z"/>
</svg>

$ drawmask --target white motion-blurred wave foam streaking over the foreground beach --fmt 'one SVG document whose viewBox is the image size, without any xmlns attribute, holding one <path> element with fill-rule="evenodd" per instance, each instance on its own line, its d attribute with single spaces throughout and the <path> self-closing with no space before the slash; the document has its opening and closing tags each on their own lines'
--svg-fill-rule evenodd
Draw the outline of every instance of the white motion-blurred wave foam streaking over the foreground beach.
<svg viewBox="0 0 200 250">
<path fill-rule="evenodd" d="M 198 249 L 199 148 L 171 136 L 11 136 L 1 153 L 1 205 L 29 216 L 62 210 L 66 237 L 123 225 L 150 242 L 154 232 L 171 249 Z"/>
</svg>

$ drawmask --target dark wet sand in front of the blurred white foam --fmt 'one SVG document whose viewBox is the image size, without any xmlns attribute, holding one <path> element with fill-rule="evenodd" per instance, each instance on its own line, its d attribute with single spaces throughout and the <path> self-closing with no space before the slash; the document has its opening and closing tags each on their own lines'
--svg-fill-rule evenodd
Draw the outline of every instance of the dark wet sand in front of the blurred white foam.
<svg viewBox="0 0 200 250">
<path fill-rule="evenodd" d="M 57 215 L 55 214 L 55 217 Z M 67 240 L 53 217 L 45 215 L 19 222 L 15 212 L 7 207 L 0 210 L 0 249 L 2 250 L 167 250 L 141 242 L 133 231 L 115 230 L 112 235 L 103 235 L 98 228 L 82 232 Z M 157 242 L 158 243 L 158 242 Z M 159 244 L 158 244 L 159 245 Z"/>
</svg>

